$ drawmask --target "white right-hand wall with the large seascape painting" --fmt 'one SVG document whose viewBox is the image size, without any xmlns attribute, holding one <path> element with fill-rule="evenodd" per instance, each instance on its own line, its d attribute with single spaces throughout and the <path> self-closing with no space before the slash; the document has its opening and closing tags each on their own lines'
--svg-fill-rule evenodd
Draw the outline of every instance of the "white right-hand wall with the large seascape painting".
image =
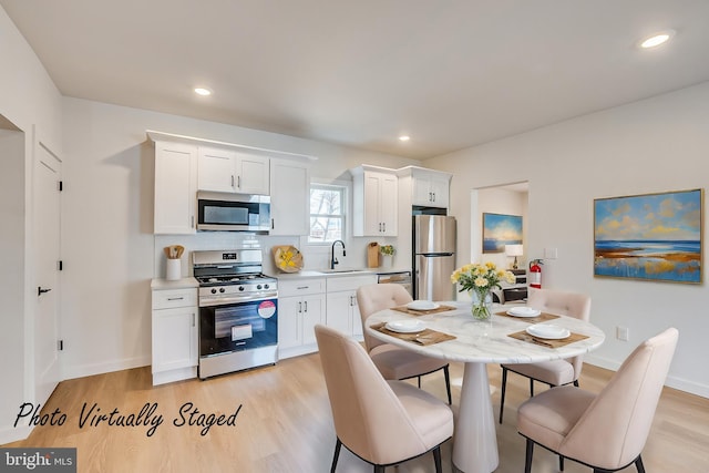
<svg viewBox="0 0 709 473">
<path fill-rule="evenodd" d="M 707 103 L 702 83 L 424 162 L 455 173 L 451 210 L 463 232 L 471 227 L 472 189 L 528 181 L 526 258 L 557 248 L 558 259 L 545 260 L 543 286 L 590 294 L 592 321 L 607 336 L 586 360 L 616 369 L 641 340 L 675 326 L 680 340 L 668 383 L 703 397 L 707 284 L 594 278 L 593 200 L 709 186 Z M 460 250 L 461 260 L 470 257 Z M 629 328 L 629 342 L 615 339 L 618 325 Z"/>
</svg>

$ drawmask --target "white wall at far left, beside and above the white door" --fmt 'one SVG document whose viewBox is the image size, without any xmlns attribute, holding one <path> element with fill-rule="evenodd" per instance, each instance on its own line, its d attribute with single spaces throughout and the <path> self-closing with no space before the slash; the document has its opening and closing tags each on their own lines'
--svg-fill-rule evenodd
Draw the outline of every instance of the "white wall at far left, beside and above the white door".
<svg viewBox="0 0 709 473">
<path fill-rule="evenodd" d="M 12 208 L 2 208 L 0 218 L 3 226 L 16 226 L 16 232 L 3 234 L 0 241 L 4 255 L 0 270 L 14 277 L 12 292 L 7 288 L 0 294 L 0 332 L 12 337 L 10 342 L 0 345 L 1 444 L 27 435 L 27 429 L 16 429 L 12 424 L 20 404 L 34 401 L 32 328 L 37 286 L 30 245 L 33 238 L 32 151 L 41 141 L 61 152 L 61 97 L 37 55 L 1 8 L 0 64 L 0 116 L 3 117 L 0 127 L 21 132 L 3 138 L 9 141 L 2 145 L 0 157 L 3 192 L 11 193 L 13 199 Z"/>
</svg>

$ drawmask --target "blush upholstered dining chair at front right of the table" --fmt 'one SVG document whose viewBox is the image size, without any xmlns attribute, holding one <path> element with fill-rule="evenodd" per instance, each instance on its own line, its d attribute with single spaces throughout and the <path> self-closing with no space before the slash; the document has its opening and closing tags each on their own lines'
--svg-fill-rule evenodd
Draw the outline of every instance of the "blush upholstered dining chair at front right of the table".
<svg viewBox="0 0 709 473">
<path fill-rule="evenodd" d="M 679 332 L 669 328 L 640 343 L 596 395 L 571 385 L 552 388 L 517 410 L 517 431 L 526 438 L 525 473 L 532 470 L 534 444 L 564 459 L 614 472 L 635 463 L 653 424 Z"/>
</svg>

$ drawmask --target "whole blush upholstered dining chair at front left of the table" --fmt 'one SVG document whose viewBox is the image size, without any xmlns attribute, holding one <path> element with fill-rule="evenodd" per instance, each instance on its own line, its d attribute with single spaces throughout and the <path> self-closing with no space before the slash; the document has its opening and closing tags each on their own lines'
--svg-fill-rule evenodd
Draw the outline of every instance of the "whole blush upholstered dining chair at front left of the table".
<svg viewBox="0 0 709 473">
<path fill-rule="evenodd" d="M 453 413 L 412 384 L 384 380 L 364 348 L 321 325 L 315 328 L 337 443 L 331 473 L 345 445 L 383 473 L 387 465 L 433 452 L 441 473 L 441 444 L 453 435 Z"/>
</svg>

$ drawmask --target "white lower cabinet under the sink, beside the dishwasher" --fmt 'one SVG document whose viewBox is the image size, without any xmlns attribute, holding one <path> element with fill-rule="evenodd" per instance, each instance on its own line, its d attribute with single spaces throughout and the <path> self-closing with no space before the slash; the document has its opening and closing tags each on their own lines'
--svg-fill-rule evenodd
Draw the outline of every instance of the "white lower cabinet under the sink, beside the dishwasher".
<svg viewBox="0 0 709 473">
<path fill-rule="evenodd" d="M 357 289 L 360 286 L 376 282 L 376 275 L 337 276 L 328 278 L 328 312 L 326 325 L 358 340 L 362 340 L 362 319 L 357 304 Z"/>
</svg>

